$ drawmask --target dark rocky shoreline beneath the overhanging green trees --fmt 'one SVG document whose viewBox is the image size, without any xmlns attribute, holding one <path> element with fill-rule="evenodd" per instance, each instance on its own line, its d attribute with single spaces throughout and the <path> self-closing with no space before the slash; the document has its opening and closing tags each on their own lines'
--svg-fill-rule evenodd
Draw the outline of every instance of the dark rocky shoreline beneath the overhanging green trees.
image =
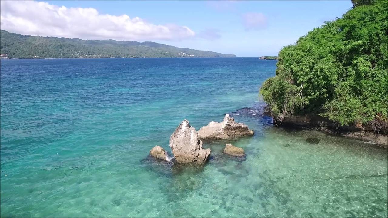
<svg viewBox="0 0 388 218">
<path fill-rule="evenodd" d="M 270 111 L 268 110 L 266 110 L 263 114 L 265 116 L 272 117 Z M 281 123 L 278 122 L 277 125 L 284 128 L 322 131 L 331 135 L 353 138 L 379 146 L 388 147 L 388 135 L 386 134 L 376 134 L 362 127 L 338 126 L 335 122 L 318 115 L 284 118 L 283 121 Z"/>
</svg>

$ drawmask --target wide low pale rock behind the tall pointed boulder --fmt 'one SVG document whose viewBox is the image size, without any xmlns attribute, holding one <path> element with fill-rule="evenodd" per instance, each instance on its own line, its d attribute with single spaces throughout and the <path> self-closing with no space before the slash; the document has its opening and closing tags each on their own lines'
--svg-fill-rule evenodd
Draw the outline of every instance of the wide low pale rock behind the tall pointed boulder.
<svg viewBox="0 0 388 218">
<path fill-rule="evenodd" d="M 253 131 L 244 123 L 237 123 L 226 114 L 221 123 L 211 121 L 198 131 L 198 137 L 203 140 L 234 139 L 253 135 Z"/>
</svg>

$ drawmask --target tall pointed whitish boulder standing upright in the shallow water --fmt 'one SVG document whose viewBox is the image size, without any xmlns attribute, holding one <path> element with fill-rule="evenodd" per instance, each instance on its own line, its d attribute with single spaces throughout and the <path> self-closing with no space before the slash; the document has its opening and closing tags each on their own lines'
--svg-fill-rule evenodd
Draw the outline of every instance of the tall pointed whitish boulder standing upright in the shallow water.
<svg viewBox="0 0 388 218">
<path fill-rule="evenodd" d="M 210 149 L 203 149 L 202 145 L 197 131 L 187 119 L 180 123 L 170 137 L 170 147 L 178 163 L 204 163 L 210 155 Z"/>
</svg>

